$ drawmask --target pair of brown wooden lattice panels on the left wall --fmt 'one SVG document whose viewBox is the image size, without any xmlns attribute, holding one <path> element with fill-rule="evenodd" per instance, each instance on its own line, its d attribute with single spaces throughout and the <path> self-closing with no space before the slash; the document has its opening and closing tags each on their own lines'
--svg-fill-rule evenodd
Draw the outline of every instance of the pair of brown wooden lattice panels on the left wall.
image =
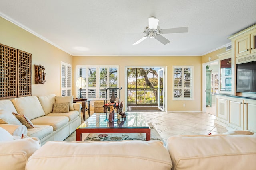
<svg viewBox="0 0 256 170">
<path fill-rule="evenodd" d="M 31 96 L 32 54 L 0 44 L 0 99 Z"/>
</svg>

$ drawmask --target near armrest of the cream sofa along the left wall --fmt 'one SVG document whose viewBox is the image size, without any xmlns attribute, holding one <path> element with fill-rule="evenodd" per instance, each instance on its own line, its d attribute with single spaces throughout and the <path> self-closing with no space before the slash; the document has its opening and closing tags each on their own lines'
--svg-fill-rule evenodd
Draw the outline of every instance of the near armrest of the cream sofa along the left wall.
<svg viewBox="0 0 256 170">
<path fill-rule="evenodd" d="M 13 136 L 22 136 L 22 134 L 27 135 L 28 129 L 24 125 L 12 125 L 12 124 L 0 124 L 0 127 L 4 128 Z"/>
</svg>

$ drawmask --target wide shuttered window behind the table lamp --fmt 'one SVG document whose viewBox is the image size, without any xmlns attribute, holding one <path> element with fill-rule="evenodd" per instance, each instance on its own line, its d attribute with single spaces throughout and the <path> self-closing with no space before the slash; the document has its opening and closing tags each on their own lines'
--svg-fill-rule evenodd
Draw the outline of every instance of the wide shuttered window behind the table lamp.
<svg viewBox="0 0 256 170">
<path fill-rule="evenodd" d="M 86 86 L 82 89 L 83 98 L 104 99 L 111 94 L 106 94 L 105 88 L 118 87 L 118 66 L 77 66 L 77 78 L 82 76 Z M 77 96 L 80 90 L 77 88 Z M 108 90 L 109 91 L 109 90 Z M 118 92 L 115 91 L 116 96 Z"/>
</svg>

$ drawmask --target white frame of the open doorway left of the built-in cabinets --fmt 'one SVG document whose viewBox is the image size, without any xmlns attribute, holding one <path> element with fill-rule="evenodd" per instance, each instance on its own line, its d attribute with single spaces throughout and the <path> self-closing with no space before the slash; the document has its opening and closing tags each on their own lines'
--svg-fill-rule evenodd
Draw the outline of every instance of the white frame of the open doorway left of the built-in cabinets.
<svg viewBox="0 0 256 170">
<path fill-rule="evenodd" d="M 202 112 L 206 112 L 206 66 L 215 63 L 216 61 L 219 62 L 218 59 L 209 61 L 206 63 L 202 63 Z M 218 72 L 220 75 L 220 72 Z"/>
</svg>

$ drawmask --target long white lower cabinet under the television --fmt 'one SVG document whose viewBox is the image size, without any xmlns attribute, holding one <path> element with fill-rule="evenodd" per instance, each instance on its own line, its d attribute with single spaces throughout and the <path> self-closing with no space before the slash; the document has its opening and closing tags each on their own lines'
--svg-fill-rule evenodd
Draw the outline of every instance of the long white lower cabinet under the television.
<svg viewBox="0 0 256 170">
<path fill-rule="evenodd" d="M 256 100 L 216 95 L 215 123 L 228 130 L 256 133 Z"/>
</svg>

